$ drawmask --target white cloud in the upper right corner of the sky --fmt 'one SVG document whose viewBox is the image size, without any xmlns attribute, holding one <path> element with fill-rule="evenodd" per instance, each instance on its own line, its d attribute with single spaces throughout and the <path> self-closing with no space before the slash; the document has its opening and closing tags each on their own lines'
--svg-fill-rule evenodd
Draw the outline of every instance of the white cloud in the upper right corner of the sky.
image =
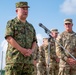
<svg viewBox="0 0 76 75">
<path fill-rule="evenodd" d="M 76 0 L 65 0 L 60 5 L 60 11 L 65 14 L 76 14 Z"/>
</svg>

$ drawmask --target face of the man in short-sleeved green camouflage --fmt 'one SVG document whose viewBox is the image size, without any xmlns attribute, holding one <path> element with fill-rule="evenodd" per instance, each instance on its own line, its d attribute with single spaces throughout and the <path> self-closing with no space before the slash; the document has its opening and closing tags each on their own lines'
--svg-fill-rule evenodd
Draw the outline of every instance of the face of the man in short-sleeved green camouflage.
<svg viewBox="0 0 76 75">
<path fill-rule="evenodd" d="M 25 8 L 25 7 L 17 8 L 16 13 L 18 17 L 20 17 L 21 19 L 25 19 L 28 16 L 28 8 Z"/>
</svg>

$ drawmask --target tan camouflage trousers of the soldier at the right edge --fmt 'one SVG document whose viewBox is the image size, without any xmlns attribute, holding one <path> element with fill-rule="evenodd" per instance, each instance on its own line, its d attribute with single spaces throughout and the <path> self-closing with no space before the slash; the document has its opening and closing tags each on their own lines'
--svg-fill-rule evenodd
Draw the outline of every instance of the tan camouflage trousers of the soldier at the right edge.
<svg viewBox="0 0 76 75">
<path fill-rule="evenodd" d="M 76 75 L 76 64 L 70 66 L 65 61 L 60 60 L 58 75 Z"/>
</svg>

